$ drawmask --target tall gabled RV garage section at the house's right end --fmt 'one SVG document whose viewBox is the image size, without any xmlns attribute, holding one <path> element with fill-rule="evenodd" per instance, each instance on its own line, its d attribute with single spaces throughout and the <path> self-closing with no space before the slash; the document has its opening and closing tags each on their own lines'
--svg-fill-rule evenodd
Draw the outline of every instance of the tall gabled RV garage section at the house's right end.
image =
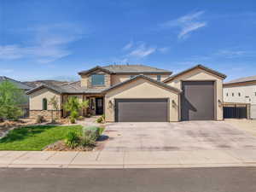
<svg viewBox="0 0 256 192">
<path fill-rule="evenodd" d="M 223 120 L 223 80 L 226 76 L 197 65 L 172 75 L 164 83 L 182 90 L 181 120 Z"/>
</svg>

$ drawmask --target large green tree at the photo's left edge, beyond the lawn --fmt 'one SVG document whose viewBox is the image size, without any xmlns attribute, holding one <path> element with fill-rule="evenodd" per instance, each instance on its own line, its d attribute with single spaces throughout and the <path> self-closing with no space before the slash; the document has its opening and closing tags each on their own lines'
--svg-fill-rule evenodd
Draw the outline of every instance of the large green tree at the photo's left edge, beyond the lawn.
<svg viewBox="0 0 256 192">
<path fill-rule="evenodd" d="M 22 115 L 20 105 L 25 101 L 23 90 L 9 81 L 3 81 L 0 84 L 0 119 L 19 119 Z"/>
</svg>

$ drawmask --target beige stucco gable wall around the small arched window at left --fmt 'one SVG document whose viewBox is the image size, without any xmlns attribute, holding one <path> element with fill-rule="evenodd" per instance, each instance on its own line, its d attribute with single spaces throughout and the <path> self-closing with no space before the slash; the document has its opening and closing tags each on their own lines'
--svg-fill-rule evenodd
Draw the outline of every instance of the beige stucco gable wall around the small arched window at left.
<svg viewBox="0 0 256 192">
<path fill-rule="evenodd" d="M 55 91 L 44 88 L 29 95 L 30 110 L 43 110 L 43 99 L 46 98 L 49 103 L 49 100 L 54 96 L 56 96 L 59 103 L 59 109 L 61 109 L 61 95 L 57 94 Z M 54 108 L 52 108 L 51 105 L 48 105 L 48 110 L 54 110 Z"/>
</svg>

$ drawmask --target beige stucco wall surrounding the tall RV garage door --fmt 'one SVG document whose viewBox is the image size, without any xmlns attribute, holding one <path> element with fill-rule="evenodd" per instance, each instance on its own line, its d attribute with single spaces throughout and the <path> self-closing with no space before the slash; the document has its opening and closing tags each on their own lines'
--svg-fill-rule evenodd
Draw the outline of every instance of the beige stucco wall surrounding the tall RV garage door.
<svg viewBox="0 0 256 192">
<path fill-rule="evenodd" d="M 177 76 L 172 81 L 167 82 L 173 87 L 177 89 L 182 89 L 182 81 L 214 81 L 215 82 L 215 119 L 223 120 L 223 79 L 214 75 L 212 73 L 208 73 L 205 70 L 197 68 L 189 73 L 184 73 L 182 75 Z M 220 101 L 221 103 L 219 103 Z"/>
</svg>

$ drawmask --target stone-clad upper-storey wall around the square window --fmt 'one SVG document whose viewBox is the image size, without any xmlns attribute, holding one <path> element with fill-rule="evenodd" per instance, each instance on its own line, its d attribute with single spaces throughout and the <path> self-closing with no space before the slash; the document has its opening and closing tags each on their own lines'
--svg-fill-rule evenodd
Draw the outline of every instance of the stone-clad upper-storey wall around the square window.
<svg viewBox="0 0 256 192">
<path fill-rule="evenodd" d="M 92 74 L 104 74 L 105 75 L 105 84 L 103 86 L 93 86 L 91 84 L 91 75 Z M 88 75 L 81 75 L 81 86 L 91 89 L 102 89 L 110 87 L 111 85 L 111 74 L 104 73 L 101 70 L 96 70 L 94 73 L 90 73 Z"/>
</svg>

